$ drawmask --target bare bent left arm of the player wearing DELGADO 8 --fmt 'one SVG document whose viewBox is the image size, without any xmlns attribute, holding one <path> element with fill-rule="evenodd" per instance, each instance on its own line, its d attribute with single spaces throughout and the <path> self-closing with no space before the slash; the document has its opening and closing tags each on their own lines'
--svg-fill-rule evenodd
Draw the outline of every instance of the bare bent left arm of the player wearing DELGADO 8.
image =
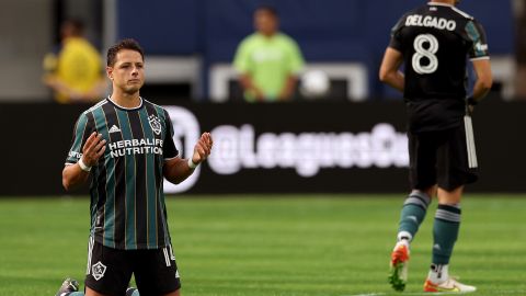
<svg viewBox="0 0 526 296">
<path fill-rule="evenodd" d="M 402 53 L 392 47 L 387 47 L 379 72 L 381 82 L 389 84 L 400 92 L 403 92 L 405 86 L 405 78 L 400 71 L 402 62 Z"/>
</svg>

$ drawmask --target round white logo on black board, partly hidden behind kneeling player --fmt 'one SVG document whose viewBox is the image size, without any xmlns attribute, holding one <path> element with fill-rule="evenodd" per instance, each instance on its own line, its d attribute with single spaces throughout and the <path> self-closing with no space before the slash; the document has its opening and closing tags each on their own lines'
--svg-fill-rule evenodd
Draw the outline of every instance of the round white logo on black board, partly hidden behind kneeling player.
<svg viewBox="0 0 526 296">
<path fill-rule="evenodd" d="M 194 152 L 194 145 L 201 137 L 201 127 L 197 118 L 192 112 L 180 106 L 164 106 L 173 124 L 173 143 L 179 150 L 179 157 L 188 158 Z M 201 166 L 193 174 L 179 185 L 174 185 L 164 180 L 164 192 L 178 193 L 190 190 L 199 178 Z"/>
</svg>

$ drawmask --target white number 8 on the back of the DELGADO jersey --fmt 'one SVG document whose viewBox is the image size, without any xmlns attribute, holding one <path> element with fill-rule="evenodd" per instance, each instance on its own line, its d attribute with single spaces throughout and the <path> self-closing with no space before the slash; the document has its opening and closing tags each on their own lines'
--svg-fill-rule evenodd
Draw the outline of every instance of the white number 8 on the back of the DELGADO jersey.
<svg viewBox="0 0 526 296">
<path fill-rule="evenodd" d="M 424 44 L 428 44 L 427 48 L 424 48 Z M 428 75 L 436 71 L 438 68 L 438 58 L 435 56 L 438 52 L 438 41 L 431 34 L 421 34 L 414 38 L 414 53 L 413 55 L 413 69 L 420 75 Z M 422 59 L 427 58 L 428 64 L 422 65 Z"/>
</svg>

